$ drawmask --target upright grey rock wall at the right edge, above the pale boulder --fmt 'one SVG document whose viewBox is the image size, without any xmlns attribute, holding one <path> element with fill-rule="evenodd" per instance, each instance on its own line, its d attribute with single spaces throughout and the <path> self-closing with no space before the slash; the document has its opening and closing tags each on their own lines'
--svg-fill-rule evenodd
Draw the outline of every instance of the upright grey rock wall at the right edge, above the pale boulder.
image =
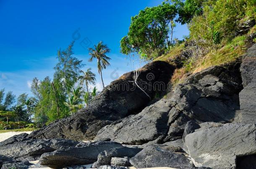
<svg viewBox="0 0 256 169">
<path fill-rule="evenodd" d="M 243 90 L 239 93 L 241 110 L 237 122 L 256 123 L 256 44 L 243 56 L 240 71 Z"/>
</svg>

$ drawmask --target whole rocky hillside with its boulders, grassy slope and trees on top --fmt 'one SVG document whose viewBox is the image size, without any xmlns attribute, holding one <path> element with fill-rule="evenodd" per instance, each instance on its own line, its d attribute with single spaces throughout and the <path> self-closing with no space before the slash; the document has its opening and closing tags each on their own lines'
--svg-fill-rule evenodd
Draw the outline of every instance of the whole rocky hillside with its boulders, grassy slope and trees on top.
<svg viewBox="0 0 256 169">
<path fill-rule="evenodd" d="M 28 168 L 34 160 L 56 169 L 255 169 L 255 2 L 170 4 L 141 10 L 121 40 L 123 53 L 148 64 L 71 116 L 1 142 L 2 169 Z M 158 30 L 163 17 L 187 23 L 189 37 L 162 41 L 169 31 Z"/>
</svg>

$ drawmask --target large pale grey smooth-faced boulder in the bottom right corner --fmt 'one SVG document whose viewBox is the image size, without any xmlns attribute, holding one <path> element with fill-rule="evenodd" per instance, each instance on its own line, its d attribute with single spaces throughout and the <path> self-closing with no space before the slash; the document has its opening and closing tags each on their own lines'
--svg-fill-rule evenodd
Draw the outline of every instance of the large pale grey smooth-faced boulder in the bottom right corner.
<svg viewBox="0 0 256 169">
<path fill-rule="evenodd" d="M 185 145 L 193 163 L 198 167 L 235 169 L 236 162 L 239 166 L 250 166 L 250 163 L 253 163 L 253 166 L 254 161 L 246 159 L 248 155 L 256 154 L 256 125 L 207 124 L 188 134 L 185 137 Z M 255 159 L 255 156 L 248 158 Z"/>
</svg>

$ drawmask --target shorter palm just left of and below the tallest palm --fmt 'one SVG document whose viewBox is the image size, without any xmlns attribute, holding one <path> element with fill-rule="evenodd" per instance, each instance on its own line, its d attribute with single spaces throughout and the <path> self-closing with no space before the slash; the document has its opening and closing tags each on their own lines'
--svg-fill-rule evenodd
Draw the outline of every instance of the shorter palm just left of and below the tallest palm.
<svg viewBox="0 0 256 169">
<path fill-rule="evenodd" d="M 83 75 L 79 76 L 78 79 L 80 79 L 80 84 L 81 85 L 83 85 L 84 82 L 85 82 L 88 97 L 89 97 L 89 103 L 90 103 L 90 94 L 89 94 L 89 90 L 88 90 L 88 84 L 89 83 L 95 84 L 95 81 L 96 81 L 95 76 L 96 75 L 91 72 L 91 68 L 87 69 L 86 72 L 84 72 L 84 71 L 80 71 L 80 72 L 83 73 Z"/>
</svg>

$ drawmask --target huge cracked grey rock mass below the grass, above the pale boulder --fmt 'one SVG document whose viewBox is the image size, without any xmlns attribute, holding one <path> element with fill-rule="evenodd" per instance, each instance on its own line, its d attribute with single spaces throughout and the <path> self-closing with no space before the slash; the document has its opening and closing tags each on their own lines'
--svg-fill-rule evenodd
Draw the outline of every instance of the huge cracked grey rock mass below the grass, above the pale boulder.
<svg viewBox="0 0 256 169">
<path fill-rule="evenodd" d="M 103 127 L 96 140 L 110 138 L 123 144 L 163 143 L 180 139 L 187 121 L 232 122 L 239 109 L 240 62 L 213 66 L 195 73 L 174 92 L 131 115 Z"/>
</svg>

